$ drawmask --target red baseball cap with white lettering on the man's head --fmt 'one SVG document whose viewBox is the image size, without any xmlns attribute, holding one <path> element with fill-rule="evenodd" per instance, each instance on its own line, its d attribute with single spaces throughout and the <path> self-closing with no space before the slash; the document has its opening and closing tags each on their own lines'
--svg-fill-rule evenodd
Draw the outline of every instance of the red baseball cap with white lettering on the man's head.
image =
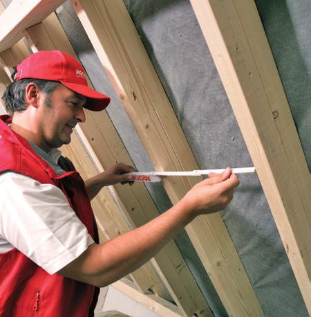
<svg viewBox="0 0 311 317">
<path fill-rule="evenodd" d="M 81 64 L 61 51 L 39 51 L 17 65 L 15 80 L 34 78 L 55 80 L 87 98 L 84 108 L 92 111 L 105 109 L 110 98 L 88 87 Z"/>
</svg>

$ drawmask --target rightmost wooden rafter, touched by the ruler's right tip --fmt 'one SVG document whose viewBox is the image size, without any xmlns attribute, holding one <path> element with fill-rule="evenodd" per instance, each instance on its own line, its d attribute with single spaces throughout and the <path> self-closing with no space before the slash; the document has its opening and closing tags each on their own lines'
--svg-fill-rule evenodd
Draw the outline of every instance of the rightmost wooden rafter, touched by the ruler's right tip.
<svg viewBox="0 0 311 317">
<path fill-rule="evenodd" d="M 254 1 L 191 0 L 311 314 L 311 182 Z"/>
</svg>

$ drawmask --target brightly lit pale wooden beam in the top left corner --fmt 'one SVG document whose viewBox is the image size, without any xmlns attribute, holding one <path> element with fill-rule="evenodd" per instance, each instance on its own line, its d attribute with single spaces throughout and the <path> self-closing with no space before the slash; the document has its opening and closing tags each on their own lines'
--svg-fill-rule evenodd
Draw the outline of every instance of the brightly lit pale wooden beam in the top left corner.
<svg viewBox="0 0 311 317">
<path fill-rule="evenodd" d="M 0 52 L 23 37 L 23 30 L 45 19 L 64 0 L 13 0 L 0 15 Z"/>
</svg>

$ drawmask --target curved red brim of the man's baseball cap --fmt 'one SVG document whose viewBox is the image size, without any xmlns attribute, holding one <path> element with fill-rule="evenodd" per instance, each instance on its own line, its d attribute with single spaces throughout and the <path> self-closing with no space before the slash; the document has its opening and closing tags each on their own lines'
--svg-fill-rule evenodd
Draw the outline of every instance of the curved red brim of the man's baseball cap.
<svg viewBox="0 0 311 317">
<path fill-rule="evenodd" d="M 109 105 L 109 97 L 91 89 L 90 87 L 84 86 L 83 84 L 75 84 L 73 82 L 62 82 L 62 84 L 76 93 L 88 98 L 86 100 L 86 104 L 84 105 L 84 108 L 88 110 L 101 111 Z"/>
</svg>

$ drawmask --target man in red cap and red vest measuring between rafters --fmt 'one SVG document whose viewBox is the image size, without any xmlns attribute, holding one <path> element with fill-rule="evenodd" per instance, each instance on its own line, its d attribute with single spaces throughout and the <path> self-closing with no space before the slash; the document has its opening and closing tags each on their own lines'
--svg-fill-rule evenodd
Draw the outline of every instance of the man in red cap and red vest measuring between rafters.
<svg viewBox="0 0 311 317">
<path fill-rule="evenodd" d="M 17 66 L 0 120 L 0 316 L 93 316 L 97 289 L 147 262 L 198 215 L 222 210 L 238 185 L 228 168 L 198 183 L 149 223 L 98 244 L 90 199 L 131 182 L 118 163 L 84 183 L 58 147 L 84 108 L 110 99 L 87 87 L 82 66 L 40 51 Z"/>
</svg>

